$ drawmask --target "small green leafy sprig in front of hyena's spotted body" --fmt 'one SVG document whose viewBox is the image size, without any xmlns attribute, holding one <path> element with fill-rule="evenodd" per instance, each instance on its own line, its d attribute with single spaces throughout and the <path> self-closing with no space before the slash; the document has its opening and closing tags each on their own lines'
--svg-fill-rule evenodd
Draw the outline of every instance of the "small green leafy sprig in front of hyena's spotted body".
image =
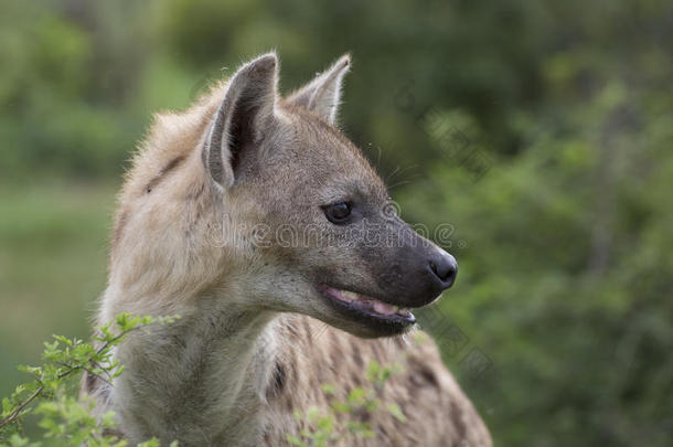
<svg viewBox="0 0 673 447">
<path fill-rule="evenodd" d="M 298 447 L 325 447 L 350 436 L 373 438 L 375 433 L 368 421 L 372 414 L 380 411 L 388 412 L 399 423 L 406 423 L 399 405 L 382 401 L 387 380 L 402 370 L 400 364 L 383 366 L 373 360 L 366 370 L 367 384 L 354 387 L 344 396 L 340 395 L 342 390 L 323 384 L 322 392 L 330 400 L 329 411 L 322 413 L 317 406 L 311 406 L 303 414 L 295 412 L 295 418 L 307 428 L 299 434 L 287 435 L 288 443 Z"/>
</svg>

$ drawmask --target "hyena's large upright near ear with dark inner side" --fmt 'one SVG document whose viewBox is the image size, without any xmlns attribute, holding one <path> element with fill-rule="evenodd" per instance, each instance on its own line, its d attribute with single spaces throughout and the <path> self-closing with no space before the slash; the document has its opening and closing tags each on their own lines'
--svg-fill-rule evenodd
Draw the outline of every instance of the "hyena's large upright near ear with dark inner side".
<svg viewBox="0 0 673 447">
<path fill-rule="evenodd" d="M 206 171 L 221 187 L 234 183 L 242 150 L 259 142 L 273 127 L 277 89 L 275 53 L 243 65 L 229 81 L 202 150 Z"/>
</svg>

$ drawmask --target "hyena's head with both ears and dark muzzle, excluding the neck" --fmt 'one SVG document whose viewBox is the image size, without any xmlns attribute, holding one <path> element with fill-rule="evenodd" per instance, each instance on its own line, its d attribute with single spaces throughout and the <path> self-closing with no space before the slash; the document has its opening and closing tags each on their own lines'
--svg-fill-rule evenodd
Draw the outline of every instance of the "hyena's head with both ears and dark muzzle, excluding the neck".
<svg viewBox="0 0 673 447">
<path fill-rule="evenodd" d="M 409 308 L 453 284 L 457 264 L 399 219 L 383 181 L 334 127 L 349 65 L 341 57 L 287 99 L 275 54 L 244 65 L 201 159 L 222 202 L 224 245 L 243 246 L 227 264 L 238 265 L 250 304 L 392 336 L 415 323 Z"/>
</svg>

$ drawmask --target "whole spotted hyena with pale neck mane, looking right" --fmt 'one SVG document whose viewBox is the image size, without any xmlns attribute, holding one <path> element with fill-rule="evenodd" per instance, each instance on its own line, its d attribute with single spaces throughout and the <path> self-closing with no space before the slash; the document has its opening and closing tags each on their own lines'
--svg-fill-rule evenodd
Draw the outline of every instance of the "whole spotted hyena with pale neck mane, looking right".
<svg viewBox="0 0 673 447">
<path fill-rule="evenodd" d="M 130 444 L 282 446 L 366 386 L 371 361 L 400 363 L 386 411 L 335 445 L 491 446 L 413 308 L 453 284 L 453 257 L 389 206 L 382 180 L 335 127 L 350 56 L 288 97 L 274 53 L 243 65 L 185 113 L 156 117 L 118 200 L 98 323 L 120 312 L 181 318 L 131 334 L 114 386 L 84 379 Z M 415 333 L 420 333 L 415 332 Z M 342 419 L 338 419 L 338 423 Z"/>
</svg>

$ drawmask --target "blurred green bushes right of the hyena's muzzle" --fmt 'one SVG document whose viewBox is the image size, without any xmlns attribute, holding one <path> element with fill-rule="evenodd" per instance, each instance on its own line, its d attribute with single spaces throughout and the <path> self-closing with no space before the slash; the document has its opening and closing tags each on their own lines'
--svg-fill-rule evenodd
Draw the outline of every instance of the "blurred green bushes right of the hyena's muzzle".
<svg viewBox="0 0 673 447">
<path fill-rule="evenodd" d="M 659 62 L 666 77 L 641 73 L 642 82 L 671 78 L 671 63 Z M 673 95 L 633 89 L 620 71 L 603 77 L 577 50 L 551 64 L 547 82 L 558 92 L 573 91 L 580 75 L 597 76 L 598 85 L 535 118 L 521 114 L 525 151 L 495 159 L 479 182 L 439 164 L 425 185 L 405 191 L 407 213 L 451 222 L 453 242 L 467 243 L 453 246 L 456 298 L 440 306 L 489 353 L 496 374 L 472 380 L 462 353 L 447 360 L 505 445 L 628 446 L 638 438 L 665 446 Z"/>
</svg>

